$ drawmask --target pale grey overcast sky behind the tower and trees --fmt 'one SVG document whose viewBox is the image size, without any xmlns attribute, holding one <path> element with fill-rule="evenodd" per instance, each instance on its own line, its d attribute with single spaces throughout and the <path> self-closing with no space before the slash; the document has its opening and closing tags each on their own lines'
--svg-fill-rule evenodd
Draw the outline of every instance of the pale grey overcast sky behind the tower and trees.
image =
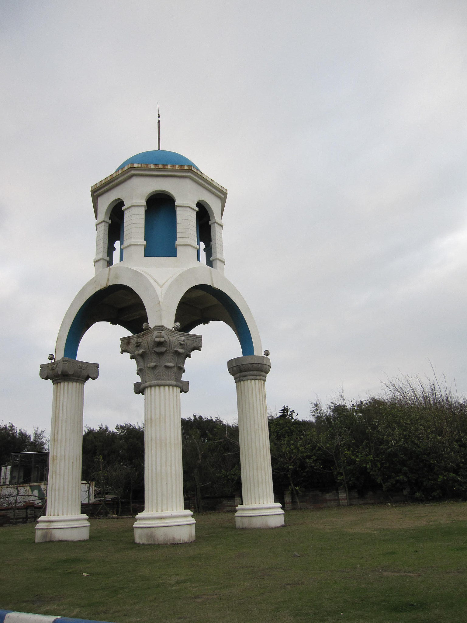
<svg viewBox="0 0 467 623">
<path fill-rule="evenodd" d="M 0 3 L 0 422 L 49 429 L 39 364 L 93 276 L 90 186 L 177 151 L 229 191 L 225 275 L 271 352 L 268 406 L 445 374 L 467 392 L 467 4 Z M 85 425 L 143 421 L 99 323 Z M 232 419 L 240 354 L 202 327 L 182 414 Z"/>
</svg>

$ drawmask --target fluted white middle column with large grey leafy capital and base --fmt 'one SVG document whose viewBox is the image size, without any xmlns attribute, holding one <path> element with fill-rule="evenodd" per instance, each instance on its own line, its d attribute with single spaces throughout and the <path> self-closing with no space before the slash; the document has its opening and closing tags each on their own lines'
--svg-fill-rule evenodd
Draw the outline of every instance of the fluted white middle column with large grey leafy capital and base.
<svg viewBox="0 0 467 623">
<path fill-rule="evenodd" d="M 136 361 L 144 394 L 144 511 L 136 515 L 136 543 L 189 543 L 195 520 L 183 507 L 182 427 L 180 393 L 187 357 L 201 350 L 200 335 L 165 326 L 121 338 L 121 352 Z"/>
</svg>

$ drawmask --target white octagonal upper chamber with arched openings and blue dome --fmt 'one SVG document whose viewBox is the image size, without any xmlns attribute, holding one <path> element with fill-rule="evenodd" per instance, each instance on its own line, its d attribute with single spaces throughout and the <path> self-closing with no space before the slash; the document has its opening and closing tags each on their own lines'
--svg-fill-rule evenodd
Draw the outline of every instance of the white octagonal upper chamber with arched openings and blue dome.
<svg viewBox="0 0 467 623">
<path fill-rule="evenodd" d="M 183 269 L 201 262 L 224 274 L 227 190 L 174 151 L 144 151 L 92 186 L 95 272 L 118 262 Z"/>
</svg>

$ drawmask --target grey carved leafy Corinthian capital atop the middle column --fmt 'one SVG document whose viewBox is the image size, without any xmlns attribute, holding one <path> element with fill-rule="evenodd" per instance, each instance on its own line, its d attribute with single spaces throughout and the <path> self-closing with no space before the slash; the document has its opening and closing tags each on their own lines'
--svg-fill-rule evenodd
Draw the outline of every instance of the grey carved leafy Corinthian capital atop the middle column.
<svg viewBox="0 0 467 623">
<path fill-rule="evenodd" d="M 120 340 L 121 353 L 130 353 L 136 361 L 141 383 L 134 384 L 134 391 L 141 394 L 147 387 L 158 385 L 175 385 L 188 391 L 187 381 L 182 381 L 185 360 L 201 347 L 200 335 L 172 331 L 166 326 L 153 326 Z"/>
</svg>

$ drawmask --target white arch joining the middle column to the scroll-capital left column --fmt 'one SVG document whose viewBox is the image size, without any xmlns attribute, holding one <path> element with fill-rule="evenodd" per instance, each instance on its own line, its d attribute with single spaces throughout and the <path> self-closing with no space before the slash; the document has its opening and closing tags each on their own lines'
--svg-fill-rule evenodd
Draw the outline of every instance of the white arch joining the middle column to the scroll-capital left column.
<svg viewBox="0 0 467 623">
<path fill-rule="evenodd" d="M 55 345 L 55 358 L 60 359 L 64 356 L 70 356 L 70 353 L 66 353 L 65 346 L 67 345 L 67 338 L 70 336 L 70 331 L 73 327 L 76 327 L 77 335 L 74 337 L 74 341 L 77 341 L 77 347 L 82 339 L 82 336 L 89 328 L 89 325 L 85 330 L 80 333 L 79 323 L 77 325 L 76 320 L 79 318 L 80 312 L 83 307 L 90 301 L 90 299 L 98 292 L 105 293 L 105 290 L 113 286 L 124 286 L 133 290 L 136 295 L 143 302 L 146 310 L 148 323 L 153 326 L 157 325 L 161 321 L 161 302 L 159 300 L 158 292 L 154 288 L 154 283 L 149 278 L 138 270 L 134 270 L 125 266 L 113 266 L 109 269 L 101 270 L 95 277 L 84 285 L 73 299 L 72 304 L 68 307 L 65 314 L 62 325 L 60 326 L 59 335 L 57 336 L 57 343 Z M 98 321 L 98 320 L 97 320 Z M 73 325 L 75 323 L 75 325 Z M 116 322 L 116 324 L 120 324 Z M 65 354 L 66 353 L 66 354 Z M 73 359 L 77 356 L 74 354 Z"/>
</svg>

